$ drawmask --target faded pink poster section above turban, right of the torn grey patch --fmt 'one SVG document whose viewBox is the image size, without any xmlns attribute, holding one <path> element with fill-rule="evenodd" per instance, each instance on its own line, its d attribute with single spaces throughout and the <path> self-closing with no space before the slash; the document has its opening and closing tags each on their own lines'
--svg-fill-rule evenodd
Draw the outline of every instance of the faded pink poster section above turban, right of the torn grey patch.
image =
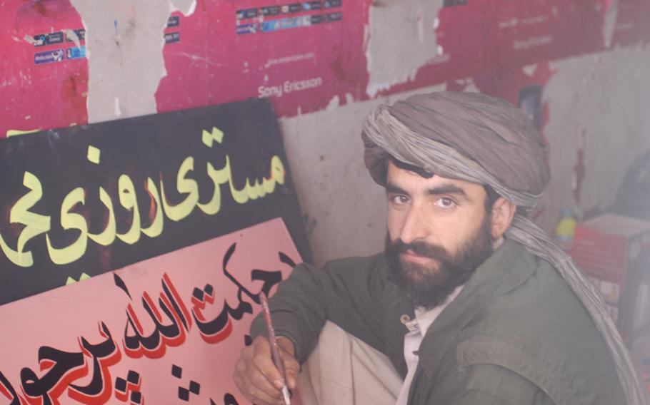
<svg viewBox="0 0 650 405">
<path fill-rule="evenodd" d="M 629 0 L 634 1 L 634 0 Z M 609 0 L 445 0 L 432 27 L 437 49 L 396 93 L 599 51 Z"/>
</svg>

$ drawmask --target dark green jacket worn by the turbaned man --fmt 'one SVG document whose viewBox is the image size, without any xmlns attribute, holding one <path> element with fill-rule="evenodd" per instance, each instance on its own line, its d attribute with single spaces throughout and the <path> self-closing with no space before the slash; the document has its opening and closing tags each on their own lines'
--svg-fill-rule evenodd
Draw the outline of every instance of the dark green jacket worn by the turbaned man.
<svg viewBox="0 0 650 405">
<path fill-rule="evenodd" d="M 404 292 L 384 255 L 299 265 L 270 299 L 276 332 L 300 362 L 326 320 L 386 354 L 402 376 Z M 264 334 L 257 317 L 251 334 Z M 431 324 L 419 349 L 409 404 L 624 405 L 604 339 L 548 262 L 506 240 Z"/>
</svg>

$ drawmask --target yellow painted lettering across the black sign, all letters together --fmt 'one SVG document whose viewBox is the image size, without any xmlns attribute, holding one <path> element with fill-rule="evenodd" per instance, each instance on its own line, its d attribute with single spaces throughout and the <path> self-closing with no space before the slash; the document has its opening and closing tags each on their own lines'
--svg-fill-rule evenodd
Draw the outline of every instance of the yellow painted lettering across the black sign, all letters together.
<svg viewBox="0 0 650 405">
<path fill-rule="evenodd" d="M 220 136 L 216 136 L 215 134 Z M 213 128 L 213 133 L 209 135 L 217 143 L 221 143 L 223 135 L 220 131 L 216 131 L 216 128 Z M 226 155 L 226 162 L 220 169 L 214 168 L 212 163 L 206 163 L 206 173 L 214 185 L 214 192 L 208 202 L 201 203 L 199 202 L 199 185 L 196 180 L 190 177 L 193 172 L 194 158 L 189 156 L 183 160 L 176 175 L 176 190 L 185 197 L 184 200 L 175 205 L 171 204 L 167 198 L 169 193 L 166 193 L 162 178 L 160 178 L 159 188 L 154 180 L 147 178 L 146 191 L 149 193 L 151 202 L 148 215 L 151 224 L 148 227 L 142 227 L 141 214 L 133 180 L 131 180 L 129 175 L 121 175 L 118 179 L 119 202 L 132 215 L 129 230 L 123 234 L 117 232 L 114 202 L 111 200 L 109 193 L 106 192 L 106 189 L 99 187 L 99 200 L 108 211 L 106 226 L 104 230 L 96 234 L 89 232 L 89 224 L 86 222 L 84 215 L 71 212 L 76 205 L 85 205 L 86 196 L 84 189 L 75 188 L 71 190 L 63 202 L 61 202 L 61 227 L 64 230 L 79 230 L 80 235 L 71 245 L 58 248 L 52 245 L 49 235 L 51 231 L 51 217 L 30 211 L 43 198 L 43 188 L 39 178 L 26 171 L 24 173 L 23 184 L 29 191 L 14 204 L 9 214 L 9 221 L 12 224 L 21 224 L 24 225 L 24 228 L 20 232 L 15 250 L 9 246 L 2 235 L 0 235 L 0 248 L 4 252 L 4 255 L 15 265 L 31 267 L 34 265 L 34 258 L 32 257 L 31 251 L 25 250 L 26 245 L 34 237 L 45 234 L 46 247 L 51 261 L 56 265 L 67 265 L 79 260 L 85 254 L 89 238 L 98 245 L 103 246 L 113 244 L 116 238 L 119 238 L 119 240 L 122 240 L 126 244 L 134 245 L 140 240 L 142 233 L 151 238 L 159 237 L 164 230 L 165 216 L 169 220 L 178 222 L 191 215 L 194 207 L 199 207 L 206 215 L 216 215 L 221 210 L 222 205 L 221 185 L 228 183 L 234 201 L 238 204 L 246 204 L 246 202 L 264 198 L 264 196 L 274 193 L 276 185 L 284 185 L 286 177 L 286 170 L 282 160 L 279 156 L 273 155 L 270 161 L 268 177 L 245 178 L 244 186 L 241 189 L 237 189 L 234 185 L 231 159 L 229 155 Z"/>
</svg>

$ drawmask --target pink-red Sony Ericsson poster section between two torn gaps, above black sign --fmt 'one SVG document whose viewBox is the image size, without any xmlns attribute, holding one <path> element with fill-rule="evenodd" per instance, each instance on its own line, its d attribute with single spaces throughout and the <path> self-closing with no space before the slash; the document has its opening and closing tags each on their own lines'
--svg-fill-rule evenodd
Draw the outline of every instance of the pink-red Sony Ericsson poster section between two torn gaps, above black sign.
<svg viewBox="0 0 650 405">
<path fill-rule="evenodd" d="M 271 97 L 279 116 L 361 98 L 370 0 L 198 1 L 165 30 L 159 111 Z"/>
</svg>

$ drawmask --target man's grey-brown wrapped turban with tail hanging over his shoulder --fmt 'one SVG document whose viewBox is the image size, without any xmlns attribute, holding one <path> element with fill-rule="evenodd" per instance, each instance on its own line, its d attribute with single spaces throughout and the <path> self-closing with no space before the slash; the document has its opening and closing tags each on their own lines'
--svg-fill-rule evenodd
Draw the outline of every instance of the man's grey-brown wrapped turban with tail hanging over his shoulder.
<svg viewBox="0 0 650 405">
<path fill-rule="evenodd" d="M 546 148 L 526 114 L 480 93 L 419 94 L 379 106 L 364 121 L 364 160 L 372 178 L 386 182 L 386 158 L 436 175 L 490 185 L 514 204 L 532 209 L 549 181 Z M 634 366 L 601 294 L 533 222 L 516 215 L 506 237 L 550 262 L 591 314 L 616 363 L 630 405 L 645 405 Z"/>
</svg>

